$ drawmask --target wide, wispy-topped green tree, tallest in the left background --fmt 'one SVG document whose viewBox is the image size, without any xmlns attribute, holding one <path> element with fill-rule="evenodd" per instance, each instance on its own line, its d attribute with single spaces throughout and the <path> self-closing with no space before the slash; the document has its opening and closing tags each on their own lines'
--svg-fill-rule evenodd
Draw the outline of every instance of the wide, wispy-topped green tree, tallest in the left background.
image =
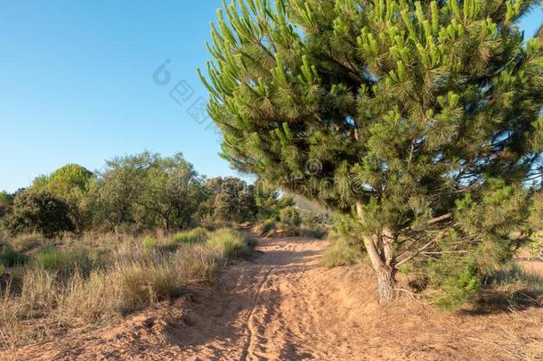
<svg viewBox="0 0 543 361">
<path fill-rule="evenodd" d="M 161 157 L 142 152 L 107 161 L 97 196 L 98 223 L 169 229 L 189 226 L 207 192 L 181 153 Z"/>
</svg>

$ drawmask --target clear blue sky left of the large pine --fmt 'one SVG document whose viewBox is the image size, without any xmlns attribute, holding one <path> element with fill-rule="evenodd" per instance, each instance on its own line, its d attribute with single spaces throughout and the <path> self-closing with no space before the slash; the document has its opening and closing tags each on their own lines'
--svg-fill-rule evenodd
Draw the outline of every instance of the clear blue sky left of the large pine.
<svg viewBox="0 0 543 361">
<path fill-rule="evenodd" d="M 2 0 L 0 190 L 66 163 L 94 170 L 143 150 L 182 152 L 207 176 L 235 175 L 199 111 L 207 92 L 196 69 L 209 59 L 204 43 L 220 6 Z M 540 10 L 524 19 L 527 35 L 542 20 Z M 166 60 L 170 80 L 160 86 L 164 73 L 153 73 Z"/>
</svg>

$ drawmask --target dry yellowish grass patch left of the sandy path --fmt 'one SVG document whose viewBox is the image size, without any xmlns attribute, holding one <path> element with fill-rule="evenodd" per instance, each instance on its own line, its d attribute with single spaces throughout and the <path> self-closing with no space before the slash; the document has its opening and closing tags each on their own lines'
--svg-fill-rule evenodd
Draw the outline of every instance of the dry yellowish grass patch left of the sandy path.
<svg viewBox="0 0 543 361">
<path fill-rule="evenodd" d="M 250 251 L 248 244 L 231 229 L 196 229 L 42 247 L 20 269 L 20 290 L 0 296 L 0 346 L 44 340 L 48 330 L 37 324 L 96 323 L 179 297 L 190 283 L 211 282 L 227 259 Z"/>
</svg>

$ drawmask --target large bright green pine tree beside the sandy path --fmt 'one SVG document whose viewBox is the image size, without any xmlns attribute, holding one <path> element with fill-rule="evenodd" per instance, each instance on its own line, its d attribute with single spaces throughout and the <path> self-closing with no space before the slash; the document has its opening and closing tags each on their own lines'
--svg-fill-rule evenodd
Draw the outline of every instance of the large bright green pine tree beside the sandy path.
<svg viewBox="0 0 543 361">
<path fill-rule="evenodd" d="M 382 302 L 407 263 L 469 298 L 542 172 L 543 31 L 516 25 L 538 4 L 224 4 L 200 72 L 223 157 L 356 217 Z"/>
</svg>

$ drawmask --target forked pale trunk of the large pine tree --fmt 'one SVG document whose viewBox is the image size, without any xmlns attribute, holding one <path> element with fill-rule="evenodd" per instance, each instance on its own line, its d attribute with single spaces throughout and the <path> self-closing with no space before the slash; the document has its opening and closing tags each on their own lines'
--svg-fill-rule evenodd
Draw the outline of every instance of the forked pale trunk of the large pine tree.
<svg viewBox="0 0 543 361">
<path fill-rule="evenodd" d="M 356 203 L 357 214 L 363 221 L 363 210 L 361 203 Z M 379 250 L 379 239 L 377 235 L 373 237 L 364 237 L 364 245 L 368 251 L 371 265 L 376 273 L 377 297 L 379 303 L 386 304 L 391 302 L 395 296 L 395 270 L 393 243 L 397 239 L 392 230 L 385 228 L 379 235 L 383 250 Z"/>
</svg>

